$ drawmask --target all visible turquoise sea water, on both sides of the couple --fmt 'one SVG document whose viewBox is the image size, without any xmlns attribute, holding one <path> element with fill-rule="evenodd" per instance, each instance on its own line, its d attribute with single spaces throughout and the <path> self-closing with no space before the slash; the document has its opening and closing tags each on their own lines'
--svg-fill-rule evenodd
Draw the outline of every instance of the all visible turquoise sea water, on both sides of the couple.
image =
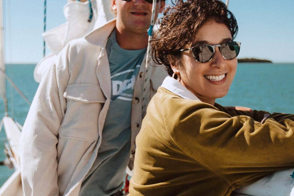
<svg viewBox="0 0 294 196">
<path fill-rule="evenodd" d="M 7 75 L 32 102 L 38 88 L 33 71 L 36 65 L 6 65 Z M 224 106 L 247 106 L 269 112 L 294 113 L 294 63 L 239 63 L 235 80 L 228 95 L 217 99 Z M 8 113 L 21 125 L 25 122 L 29 105 L 7 83 Z M 4 115 L 4 103 L 0 100 L 0 119 Z M 0 132 L 0 161 L 4 154 L 5 131 Z M 0 166 L 0 186 L 13 170 Z"/>
</svg>

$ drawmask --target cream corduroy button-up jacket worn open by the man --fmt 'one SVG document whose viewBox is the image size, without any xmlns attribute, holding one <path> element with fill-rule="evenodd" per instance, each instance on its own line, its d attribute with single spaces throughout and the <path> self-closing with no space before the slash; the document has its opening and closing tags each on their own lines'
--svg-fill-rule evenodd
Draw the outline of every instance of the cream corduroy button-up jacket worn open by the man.
<svg viewBox="0 0 294 196">
<path fill-rule="evenodd" d="M 115 19 L 84 38 L 70 42 L 43 77 L 21 133 L 20 161 L 25 195 L 78 195 L 103 139 L 111 97 L 105 46 L 114 27 Z M 167 75 L 162 66 L 150 66 L 148 72 L 151 76 L 147 81 L 147 104 Z M 144 73 L 145 59 L 134 86 L 132 152 L 146 113 L 142 111 Z"/>
</svg>

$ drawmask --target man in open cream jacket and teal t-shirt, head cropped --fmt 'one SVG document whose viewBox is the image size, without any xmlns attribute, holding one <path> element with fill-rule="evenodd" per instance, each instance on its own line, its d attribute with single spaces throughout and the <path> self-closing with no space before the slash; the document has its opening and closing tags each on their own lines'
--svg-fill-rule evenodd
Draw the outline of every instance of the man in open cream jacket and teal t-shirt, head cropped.
<svg viewBox="0 0 294 196">
<path fill-rule="evenodd" d="M 21 134 L 26 195 L 115 195 L 122 185 L 146 112 L 152 3 L 111 5 L 116 20 L 70 42 L 40 83 Z M 145 104 L 166 75 L 152 65 L 148 72 Z"/>
</svg>

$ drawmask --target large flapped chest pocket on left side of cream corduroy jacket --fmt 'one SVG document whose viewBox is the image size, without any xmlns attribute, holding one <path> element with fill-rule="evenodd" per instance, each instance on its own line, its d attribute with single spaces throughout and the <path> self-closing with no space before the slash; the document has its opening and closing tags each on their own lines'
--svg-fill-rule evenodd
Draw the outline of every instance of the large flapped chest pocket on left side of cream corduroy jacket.
<svg viewBox="0 0 294 196">
<path fill-rule="evenodd" d="M 59 137 L 93 142 L 98 139 L 98 117 L 106 100 L 97 85 L 68 85 L 63 94 L 66 112 Z"/>
</svg>

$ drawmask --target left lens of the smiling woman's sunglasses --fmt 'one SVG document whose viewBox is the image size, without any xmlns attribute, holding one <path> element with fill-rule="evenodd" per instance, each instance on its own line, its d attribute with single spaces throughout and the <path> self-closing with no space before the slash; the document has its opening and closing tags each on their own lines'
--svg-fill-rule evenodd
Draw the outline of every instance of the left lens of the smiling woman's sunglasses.
<svg viewBox="0 0 294 196">
<path fill-rule="evenodd" d="M 209 45 L 201 45 L 194 48 L 194 58 L 201 63 L 209 62 L 213 57 L 213 47 Z"/>
</svg>

